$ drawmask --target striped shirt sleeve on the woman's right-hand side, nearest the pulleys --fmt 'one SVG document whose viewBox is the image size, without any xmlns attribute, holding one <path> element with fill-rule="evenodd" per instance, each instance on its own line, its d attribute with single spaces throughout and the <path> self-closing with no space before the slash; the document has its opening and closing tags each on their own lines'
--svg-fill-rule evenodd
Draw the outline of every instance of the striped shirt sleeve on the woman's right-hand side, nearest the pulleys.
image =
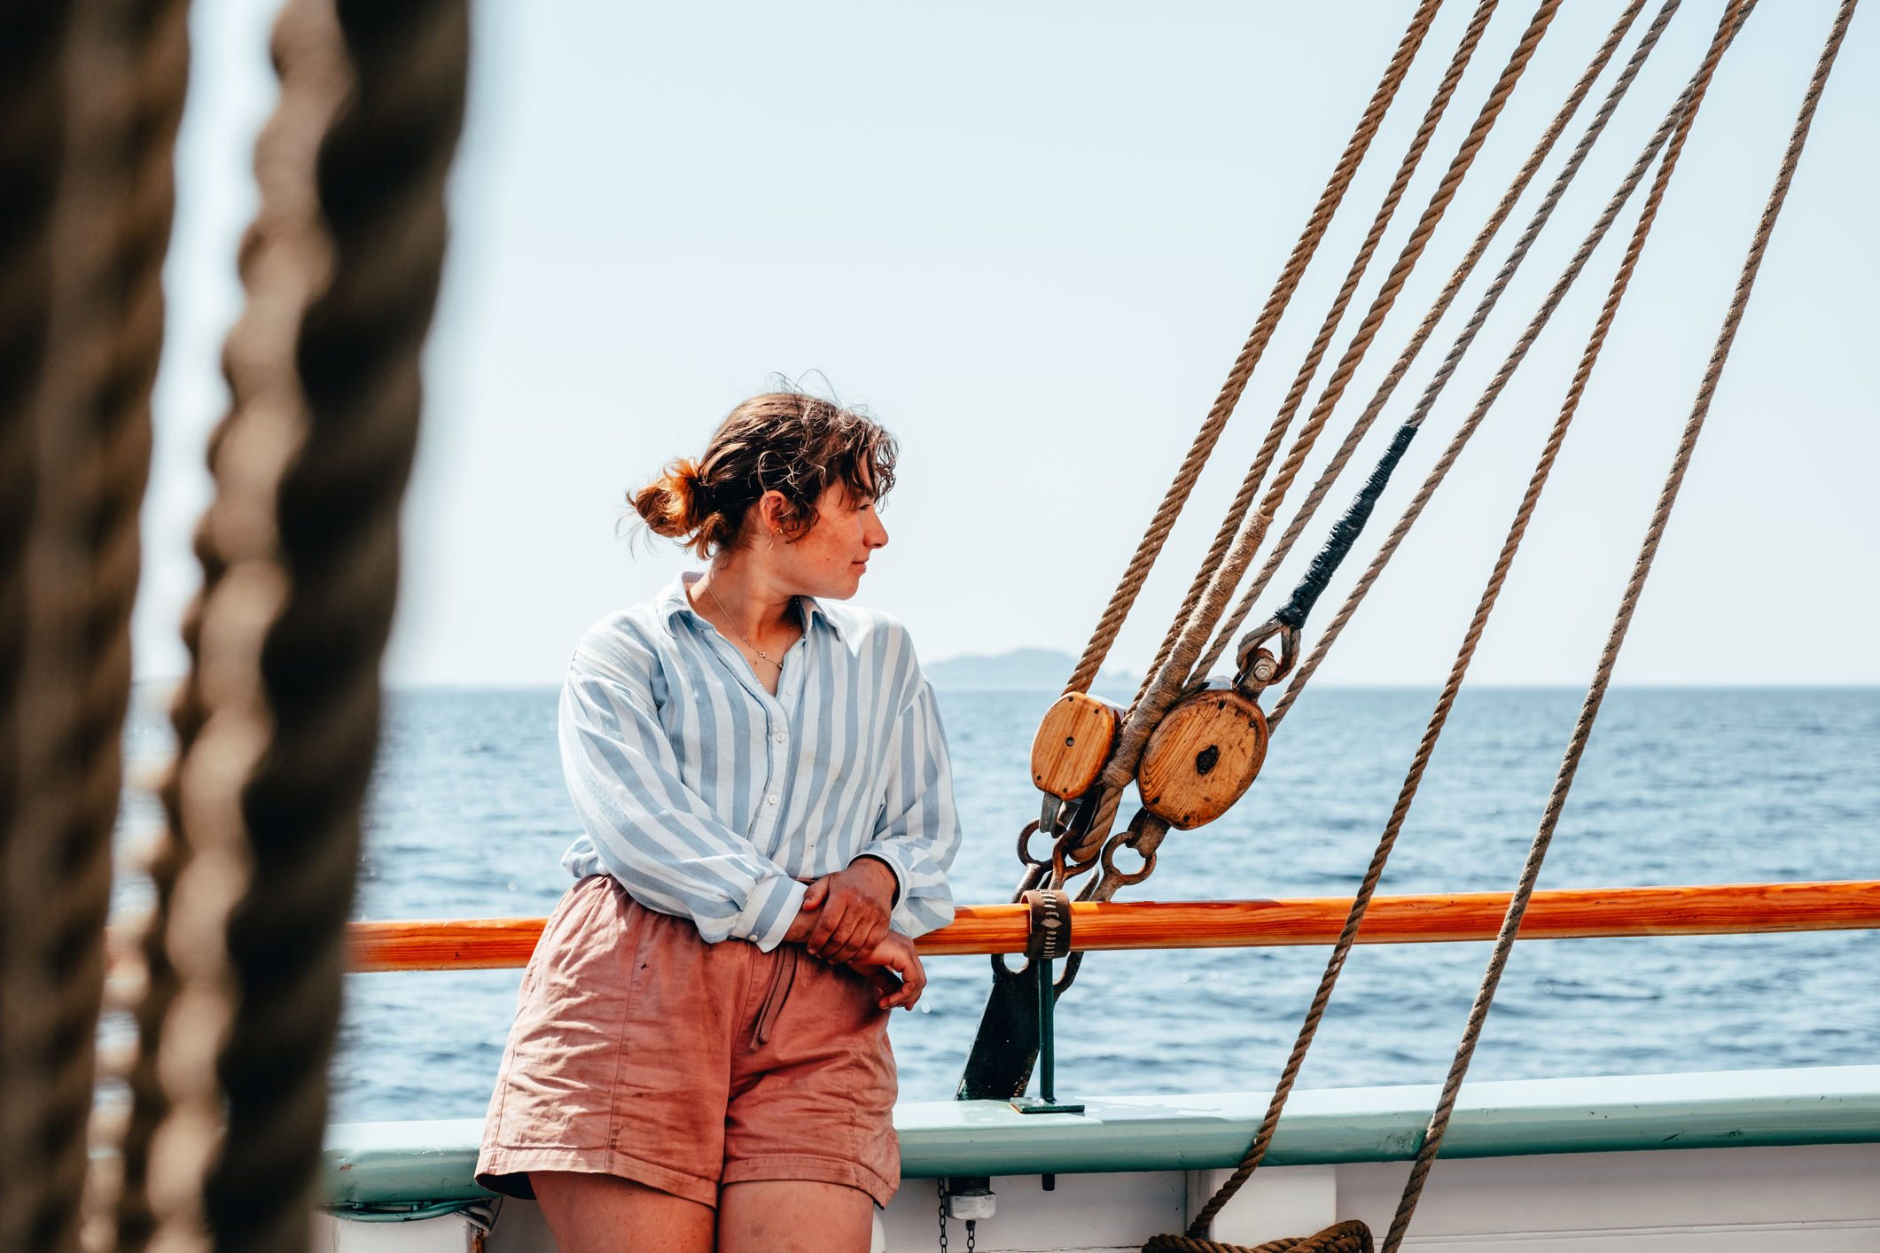
<svg viewBox="0 0 1880 1253">
<path fill-rule="evenodd" d="M 899 890 L 891 924 L 923 936 L 953 920 L 953 890 L 946 872 L 959 851 L 959 812 L 953 808 L 953 766 L 932 684 L 917 689 L 901 712 L 887 744 L 887 787 L 874 838 L 859 857 L 876 857 L 895 872 Z"/>
</svg>

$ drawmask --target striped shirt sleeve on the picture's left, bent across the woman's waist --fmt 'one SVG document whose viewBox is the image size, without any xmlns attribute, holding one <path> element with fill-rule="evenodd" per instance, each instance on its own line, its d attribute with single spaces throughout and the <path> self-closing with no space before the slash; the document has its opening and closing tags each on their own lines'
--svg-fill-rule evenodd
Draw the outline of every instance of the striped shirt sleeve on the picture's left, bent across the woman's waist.
<svg viewBox="0 0 1880 1253">
<path fill-rule="evenodd" d="M 577 875 L 611 874 L 641 904 L 692 919 L 709 943 L 775 949 L 805 885 L 686 787 L 660 725 L 652 665 L 650 652 L 626 646 L 575 652 L 562 688 L 560 751 L 587 840 L 562 864 Z"/>
</svg>

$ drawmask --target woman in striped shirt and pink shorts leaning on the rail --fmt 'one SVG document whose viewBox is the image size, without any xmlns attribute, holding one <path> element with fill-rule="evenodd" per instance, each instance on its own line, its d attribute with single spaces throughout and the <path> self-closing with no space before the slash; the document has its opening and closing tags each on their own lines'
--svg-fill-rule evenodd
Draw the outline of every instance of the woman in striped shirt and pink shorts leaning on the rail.
<svg viewBox="0 0 1880 1253">
<path fill-rule="evenodd" d="M 953 917 L 959 823 L 906 631 L 823 603 L 887 543 L 893 481 L 878 425 L 771 393 L 634 494 L 709 567 L 575 648 L 577 883 L 478 1161 L 562 1253 L 859 1253 L 895 1193 L 887 1011 L 925 986 L 912 937 Z"/>
</svg>

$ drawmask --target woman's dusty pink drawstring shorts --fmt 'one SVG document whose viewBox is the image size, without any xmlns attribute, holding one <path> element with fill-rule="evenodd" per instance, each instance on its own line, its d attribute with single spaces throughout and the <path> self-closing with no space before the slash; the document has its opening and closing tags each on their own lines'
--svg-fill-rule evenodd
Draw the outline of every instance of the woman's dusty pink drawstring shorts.
<svg viewBox="0 0 1880 1253">
<path fill-rule="evenodd" d="M 880 992 L 803 951 L 647 909 L 611 877 L 562 896 L 517 998 L 476 1180 L 613 1174 L 718 1204 L 722 1183 L 814 1180 L 885 1206 L 901 1182 Z"/>
</svg>

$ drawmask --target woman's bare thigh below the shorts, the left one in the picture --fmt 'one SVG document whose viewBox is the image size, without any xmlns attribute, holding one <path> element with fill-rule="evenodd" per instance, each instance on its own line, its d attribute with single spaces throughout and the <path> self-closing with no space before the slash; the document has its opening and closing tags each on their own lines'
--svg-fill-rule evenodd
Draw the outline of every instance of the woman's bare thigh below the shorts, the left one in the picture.
<svg viewBox="0 0 1880 1253">
<path fill-rule="evenodd" d="M 528 1182 L 560 1253 L 711 1253 L 711 1206 L 611 1174 L 530 1170 Z"/>
</svg>

